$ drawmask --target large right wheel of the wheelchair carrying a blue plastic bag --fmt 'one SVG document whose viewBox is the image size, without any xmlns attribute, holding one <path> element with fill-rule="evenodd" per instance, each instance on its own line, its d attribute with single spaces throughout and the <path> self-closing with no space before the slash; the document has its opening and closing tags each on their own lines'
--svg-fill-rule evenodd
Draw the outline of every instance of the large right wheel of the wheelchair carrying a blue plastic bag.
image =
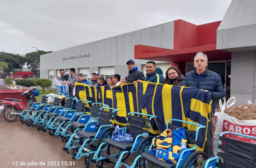
<svg viewBox="0 0 256 168">
<path fill-rule="evenodd" d="M 150 145 L 152 143 L 153 138 L 154 138 L 154 136 L 147 136 L 146 138 L 141 140 L 141 142 L 139 143 L 139 145 L 136 149 L 135 155 L 138 156 L 138 155 L 141 155 L 144 152 L 147 152 L 148 149 L 150 148 Z M 138 166 L 140 168 L 143 167 L 143 158 L 142 157 L 138 159 L 138 161 L 136 163 L 136 166 Z"/>
</svg>

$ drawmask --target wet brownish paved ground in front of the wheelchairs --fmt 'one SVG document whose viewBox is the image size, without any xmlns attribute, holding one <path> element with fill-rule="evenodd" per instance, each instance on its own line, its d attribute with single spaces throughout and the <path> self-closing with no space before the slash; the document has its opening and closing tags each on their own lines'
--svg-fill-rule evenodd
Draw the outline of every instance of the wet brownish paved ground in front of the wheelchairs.
<svg viewBox="0 0 256 168">
<path fill-rule="evenodd" d="M 0 144 L 0 167 L 84 167 L 83 157 L 80 160 L 72 159 L 62 151 L 65 143 L 60 138 L 50 136 L 48 132 L 38 131 L 36 127 L 28 127 L 20 123 L 19 118 L 8 122 L 3 118 L 3 114 L 0 114 Z M 128 160 L 132 162 L 134 158 L 130 156 Z M 59 166 L 47 166 L 50 161 L 59 163 Z M 65 161 L 74 164 L 62 165 Z M 34 166 L 28 166 L 28 162 Z M 40 162 L 45 162 L 46 165 L 42 166 Z M 21 166 L 22 163 L 25 165 Z M 35 163 L 38 165 L 35 166 Z M 114 166 L 113 163 L 104 163 L 104 167 Z"/>
</svg>

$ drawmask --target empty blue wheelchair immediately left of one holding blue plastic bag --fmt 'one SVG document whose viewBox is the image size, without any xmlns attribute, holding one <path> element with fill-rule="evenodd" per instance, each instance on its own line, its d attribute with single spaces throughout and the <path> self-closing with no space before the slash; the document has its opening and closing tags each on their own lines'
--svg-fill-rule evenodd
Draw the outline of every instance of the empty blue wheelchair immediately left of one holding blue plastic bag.
<svg viewBox="0 0 256 168">
<path fill-rule="evenodd" d="M 111 112 L 111 110 L 113 111 Z M 115 129 L 111 127 L 113 113 L 117 111 L 120 110 L 101 107 L 98 118 L 90 118 L 82 131 L 72 134 L 66 147 L 62 150 L 70 154 L 72 158 L 80 159 L 82 156 L 86 156 L 85 165 L 89 167 L 90 154 L 97 151 L 97 145 L 113 135 Z"/>
</svg>

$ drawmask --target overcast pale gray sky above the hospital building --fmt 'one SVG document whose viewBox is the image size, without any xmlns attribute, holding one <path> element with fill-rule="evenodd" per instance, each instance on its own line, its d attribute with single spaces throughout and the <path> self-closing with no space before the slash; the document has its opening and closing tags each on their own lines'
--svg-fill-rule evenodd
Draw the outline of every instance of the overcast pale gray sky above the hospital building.
<svg viewBox="0 0 256 168">
<path fill-rule="evenodd" d="M 182 19 L 220 21 L 231 0 L 0 0 L 0 51 L 57 51 Z"/>
</svg>

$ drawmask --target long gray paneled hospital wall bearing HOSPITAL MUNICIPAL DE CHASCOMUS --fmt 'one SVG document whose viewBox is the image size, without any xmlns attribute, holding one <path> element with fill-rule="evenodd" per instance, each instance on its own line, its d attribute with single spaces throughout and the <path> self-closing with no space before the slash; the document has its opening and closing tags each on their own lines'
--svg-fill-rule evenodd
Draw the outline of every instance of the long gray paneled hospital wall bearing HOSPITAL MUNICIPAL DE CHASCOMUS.
<svg viewBox="0 0 256 168">
<path fill-rule="evenodd" d="M 97 67 L 97 71 L 99 71 L 98 67 L 115 65 L 125 65 L 126 67 L 126 62 L 129 59 L 134 59 L 134 45 L 142 44 L 173 49 L 173 40 L 174 21 L 171 21 L 41 55 L 40 71 L 54 70 L 55 72 L 57 69 L 69 69 L 71 67 L 74 67 L 77 71 L 78 68 L 90 67 L 90 72 L 93 72 L 95 67 Z M 81 56 L 88 53 L 90 53 L 90 56 L 81 58 Z M 77 56 L 77 58 L 63 60 L 63 58 L 70 58 L 70 56 Z M 141 69 L 141 64 L 145 64 L 148 60 L 134 59 L 134 61 L 136 66 L 139 65 L 138 69 Z M 164 62 L 156 61 L 156 63 Z M 41 74 L 41 78 L 46 78 L 44 72 Z"/>
</svg>

